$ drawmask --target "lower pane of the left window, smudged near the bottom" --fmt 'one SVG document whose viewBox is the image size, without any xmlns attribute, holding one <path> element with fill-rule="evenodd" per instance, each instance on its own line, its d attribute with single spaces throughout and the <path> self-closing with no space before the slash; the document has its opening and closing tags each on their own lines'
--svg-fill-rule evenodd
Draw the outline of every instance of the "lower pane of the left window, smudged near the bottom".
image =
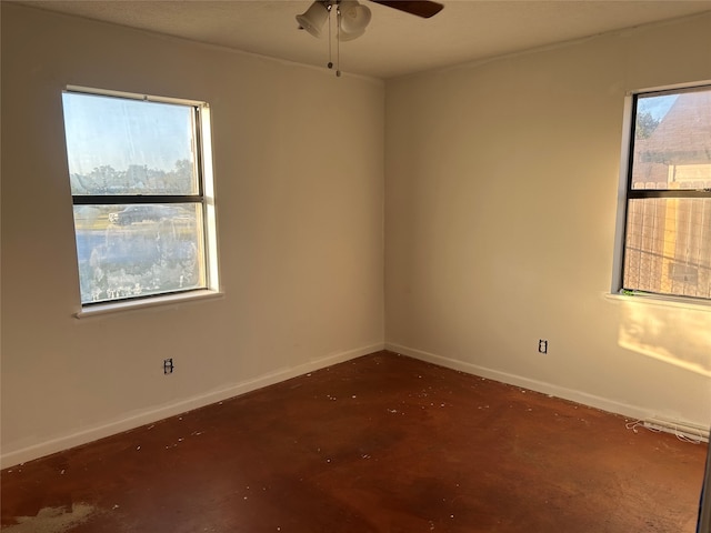
<svg viewBox="0 0 711 533">
<path fill-rule="evenodd" d="M 202 289 L 200 203 L 74 205 L 81 302 Z"/>
</svg>

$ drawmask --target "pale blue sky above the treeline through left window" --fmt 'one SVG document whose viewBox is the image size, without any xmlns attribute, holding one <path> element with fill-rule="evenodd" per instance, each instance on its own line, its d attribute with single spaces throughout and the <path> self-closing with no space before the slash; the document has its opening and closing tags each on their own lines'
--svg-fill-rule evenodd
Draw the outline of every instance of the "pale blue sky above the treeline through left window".
<svg viewBox="0 0 711 533">
<path fill-rule="evenodd" d="M 192 160 L 192 107 L 64 92 L 64 132 L 71 174 L 130 164 L 169 171 Z"/>
</svg>

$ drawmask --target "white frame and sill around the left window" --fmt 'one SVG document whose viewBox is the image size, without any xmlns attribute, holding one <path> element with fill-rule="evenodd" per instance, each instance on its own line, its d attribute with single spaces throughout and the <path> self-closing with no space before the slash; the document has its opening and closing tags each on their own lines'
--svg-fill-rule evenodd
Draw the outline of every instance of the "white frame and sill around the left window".
<svg viewBox="0 0 711 533">
<path fill-rule="evenodd" d="M 196 124 L 196 134 L 198 137 L 198 161 L 197 173 L 200 189 L 199 203 L 202 205 L 202 231 L 204 243 L 204 289 L 193 289 L 184 292 L 162 293 L 147 295 L 140 299 L 123 299 L 114 301 L 103 301 L 97 303 L 81 303 L 80 310 L 74 316 L 86 318 L 97 314 L 113 313 L 118 311 L 127 311 L 131 309 L 141 309 L 156 305 L 176 304 L 179 302 L 193 301 L 206 298 L 216 298 L 221 295 L 218 268 L 218 238 L 217 238 L 217 210 L 216 210 L 216 191 L 212 165 L 212 134 L 210 105 L 204 101 L 179 99 L 170 97 L 156 97 L 139 94 L 132 92 L 113 91 L 106 89 L 94 89 L 80 86 L 67 86 L 64 92 L 84 93 L 100 97 L 116 97 L 131 100 L 142 100 L 149 102 L 173 103 L 180 105 L 189 105 L 194 108 L 198 120 Z M 72 195 L 72 203 L 76 202 Z M 78 271 L 79 273 L 79 271 Z"/>
</svg>

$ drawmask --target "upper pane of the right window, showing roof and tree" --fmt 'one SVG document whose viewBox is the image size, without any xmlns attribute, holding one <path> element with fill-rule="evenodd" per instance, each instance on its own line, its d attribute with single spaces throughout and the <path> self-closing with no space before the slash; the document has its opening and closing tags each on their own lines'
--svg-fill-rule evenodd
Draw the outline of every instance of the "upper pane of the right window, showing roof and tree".
<svg viewBox="0 0 711 533">
<path fill-rule="evenodd" d="M 640 95 L 632 189 L 711 188 L 711 90 Z"/>
</svg>

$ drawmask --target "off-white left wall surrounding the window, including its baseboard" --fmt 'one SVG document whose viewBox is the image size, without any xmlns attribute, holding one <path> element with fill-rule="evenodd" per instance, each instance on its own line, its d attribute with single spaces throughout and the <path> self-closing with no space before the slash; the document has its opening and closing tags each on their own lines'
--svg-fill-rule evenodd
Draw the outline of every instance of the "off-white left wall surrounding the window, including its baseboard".
<svg viewBox="0 0 711 533">
<path fill-rule="evenodd" d="M 67 84 L 211 104 L 223 298 L 72 318 Z M 383 107 L 381 81 L 2 2 L 3 466 L 382 349 Z"/>
</svg>

